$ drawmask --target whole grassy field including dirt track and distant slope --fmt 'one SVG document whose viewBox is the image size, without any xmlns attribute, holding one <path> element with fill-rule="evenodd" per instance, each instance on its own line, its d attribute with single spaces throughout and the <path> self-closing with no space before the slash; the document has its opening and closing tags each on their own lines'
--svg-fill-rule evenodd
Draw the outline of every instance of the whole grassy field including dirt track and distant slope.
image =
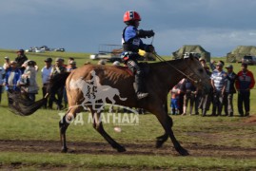
<svg viewBox="0 0 256 171">
<path fill-rule="evenodd" d="M 84 53 L 27 55 L 40 68 L 47 57 L 63 57 L 66 61 L 74 57 L 78 66 L 90 61 L 89 54 Z M 0 59 L 5 56 L 14 59 L 16 53 L 14 50 L 0 50 Z M 236 72 L 240 69 L 240 64 L 233 66 Z M 256 75 L 256 66 L 248 68 Z M 39 75 L 38 84 L 41 85 Z M 17 116 L 9 111 L 4 93 L 0 105 L 0 169 L 256 170 L 255 95 L 253 89 L 249 118 L 237 117 L 236 95 L 236 117 L 172 116 L 176 138 L 190 153 L 188 157 L 181 157 L 170 141 L 162 148 L 154 147 L 155 138 L 164 131 L 151 114 L 139 115 L 137 125 L 121 125 L 120 133 L 113 130 L 114 123 L 105 124 L 109 135 L 127 147 L 127 152 L 118 153 L 87 122 L 87 112 L 81 115 L 83 124 L 71 123 L 69 126 L 68 145 L 73 151 L 62 154 L 58 122 L 65 111 L 39 109 L 28 117 Z M 41 96 L 40 92 L 37 99 Z"/>
</svg>

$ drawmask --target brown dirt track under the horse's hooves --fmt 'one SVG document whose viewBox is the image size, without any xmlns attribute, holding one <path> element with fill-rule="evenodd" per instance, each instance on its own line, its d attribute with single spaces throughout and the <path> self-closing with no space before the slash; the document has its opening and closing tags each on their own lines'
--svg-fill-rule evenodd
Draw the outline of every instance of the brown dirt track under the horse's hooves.
<svg viewBox="0 0 256 171">
<path fill-rule="evenodd" d="M 75 154 L 113 154 L 113 155 L 161 155 L 179 156 L 171 142 L 166 142 L 162 148 L 155 148 L 155 142 L 134 142 L 123 144 L 127 152 L 118 153 L 108 142 L 69 142 L 69 152 Z M 194 157 L 216 158 L 256 158 L 256 147 L 216 146 L 198 143 L 183 144 Z M 0 140 L 0 151 L 60 153 L 60 142 L 55 141 L 18 141 Z"/>
</svg>

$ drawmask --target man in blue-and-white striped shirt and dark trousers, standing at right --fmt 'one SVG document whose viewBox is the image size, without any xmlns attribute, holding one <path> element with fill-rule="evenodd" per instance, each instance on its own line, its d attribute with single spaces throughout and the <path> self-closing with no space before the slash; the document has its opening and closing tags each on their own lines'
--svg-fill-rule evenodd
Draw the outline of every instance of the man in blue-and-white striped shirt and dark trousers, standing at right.
<svg viewBox="0 0 256 171">
<path fill-rule="evenodd" d="M 213 70 L 210 79 L 213 88 L 212 116 L 216 116 L 216 109 L 217 116 L 221 116 L 223 98 L 226 91 L 226 72 L 223 70 L 223 64 L 221 62 L 217 63 L 216 69 Z"/>
</svg>

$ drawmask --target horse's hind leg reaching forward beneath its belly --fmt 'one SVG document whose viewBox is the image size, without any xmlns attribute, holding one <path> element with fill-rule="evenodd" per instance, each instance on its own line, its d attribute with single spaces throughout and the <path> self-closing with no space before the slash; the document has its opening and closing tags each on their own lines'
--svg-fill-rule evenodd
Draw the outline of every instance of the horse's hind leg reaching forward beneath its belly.
<svg viewBox="0 0 256 171">
<path fill-rule="evenodd" d="M 100 113 L 92 114 L 92 118 L 93 128 L 96 129 L 113 148 L 117 149 L 118 152 L 126 151 L 126 148 L 124 146 L 120 145 L 118 142 L 115 142 L 105 131 L 103 124 L 100 121 Z"/>
</svg>

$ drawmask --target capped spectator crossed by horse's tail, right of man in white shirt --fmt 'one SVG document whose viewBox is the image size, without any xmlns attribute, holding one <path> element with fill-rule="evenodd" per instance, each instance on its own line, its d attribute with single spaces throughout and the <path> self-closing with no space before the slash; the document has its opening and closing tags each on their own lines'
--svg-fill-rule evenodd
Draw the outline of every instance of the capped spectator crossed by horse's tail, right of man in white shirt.
<svg viewBox="0 0 256 171">
<path fill-rule="evenodd" d="M 66 66 L 64 65 L 64 60 L 61 58 L 56 58 L 55 60 L 55 66 L 52 66 L 51 72 L 50 72 L 50 78 L 53 78 L 57 74 L 61 74 L 66 72 Z M 60 85 L 59 89 L 56 92 L 51 92 L 49 97 L 49 102 L 55 102 L 57 104 L 57 109 L 61 110 L 63 107 L 62 99 L 63 99 L 63 89 L 64 85 Z M 55 98 L 55 95 L 57 94 L 57 99 Z M 49 104 L 49 108 L 52 108 L 52 104 Z"/>
</svg>

